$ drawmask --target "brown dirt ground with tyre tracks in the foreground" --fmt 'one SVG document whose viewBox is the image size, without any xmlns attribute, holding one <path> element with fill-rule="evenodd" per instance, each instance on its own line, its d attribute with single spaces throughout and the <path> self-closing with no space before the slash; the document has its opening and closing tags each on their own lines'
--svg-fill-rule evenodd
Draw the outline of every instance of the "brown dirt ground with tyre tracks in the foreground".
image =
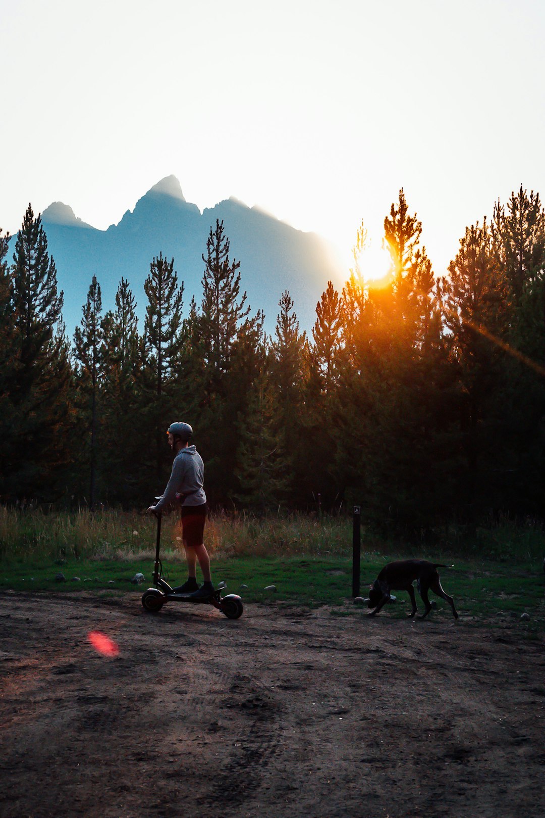
<svg viewBox="0 0 545 818">
<path fill-rule="evenodd" d="M 543 816 L 518 623 L 140 596 L 0 595 L 0 816 Z"/>
</svg>

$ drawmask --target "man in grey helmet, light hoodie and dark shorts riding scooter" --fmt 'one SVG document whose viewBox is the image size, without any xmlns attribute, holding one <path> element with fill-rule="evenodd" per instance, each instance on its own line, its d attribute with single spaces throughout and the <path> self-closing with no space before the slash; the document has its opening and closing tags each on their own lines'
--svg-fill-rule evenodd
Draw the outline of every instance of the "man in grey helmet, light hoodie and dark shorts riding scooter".
<svg viewBox="0 0 545 818">
<path fill-rule="evenodd" d="M 191 594 L 193 599 L 212 596 L 214 587 L 210 573 L 210 557 L 204 547 L 204 521 L 206 519 L 206 494 L 204 493 L 204 464 L 194 445 L 189 445 L 193 429 L 189 423 L 172 423 L 168 427 L 168 443 L 175 453 L 172 473 L 163 492 L 163 497 L 155 506 L 150 506 L 150 514 L 159 515 L 163 510 L 181 502 L 181 542 L 187 560 L 187 582 L 174 590 L 181 594 Z M 203 587 L 197 584 L 197 560 L 203 573 Z"/>
</svg>

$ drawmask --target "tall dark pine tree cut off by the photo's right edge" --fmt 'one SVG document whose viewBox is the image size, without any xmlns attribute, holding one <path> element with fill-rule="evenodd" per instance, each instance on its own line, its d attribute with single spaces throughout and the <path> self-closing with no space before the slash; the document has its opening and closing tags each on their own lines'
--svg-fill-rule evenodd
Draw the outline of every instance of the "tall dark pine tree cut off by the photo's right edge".
<svg viewBox="0 0 545 818">
<path fill-rule="evenodd" d="M 495 259 L 505 279 L 498 331 L 508 350 L 490 418 L 503 440 L 501 461 L 492 464 L 493 500 L 513 515 L 536 515 L 545 488 L 545 211 L 539 195 L 528 196 L 520 186 L 507 208 L 495 205 L 492 227 Z"/>
</svg>

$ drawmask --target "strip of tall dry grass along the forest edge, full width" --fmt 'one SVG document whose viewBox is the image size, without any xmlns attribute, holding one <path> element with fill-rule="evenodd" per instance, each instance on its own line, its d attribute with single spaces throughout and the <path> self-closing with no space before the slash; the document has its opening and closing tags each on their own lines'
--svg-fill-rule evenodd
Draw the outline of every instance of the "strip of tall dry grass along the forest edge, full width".
<svg viewBox="0 0 545 818">
<path fill-rule="evenodd" d="M 0 560 L 60 560 L 69 557 L 88 560 L 151 559 L 155 550 L 155 519 L 137 511 L 79 509 L 74 512 L 46 512 L 40 509 L 13 509 L 0 506 Z M 317 517 L 305 514 L 278 514 L 257 517 L 248 513 L 214 513 L 207 521 L 205 542 L 210 555 L 307 556 L 336 558 L 351 555 L 350 515 Z M 373 537 L 362 528 L 362 552 L 421 556 L 444 560 L 449 555 L 489 559 L 543 560 L 543 525 L 533 520 L 515 524 L 500 519 L 480 529 L 476 540 L 468 541 L 451 528 L 450 536 L 425 544 Z M 185 559 L 177 515 L 163 519 L 161 551 L 171 560 Z"/>
</svg>

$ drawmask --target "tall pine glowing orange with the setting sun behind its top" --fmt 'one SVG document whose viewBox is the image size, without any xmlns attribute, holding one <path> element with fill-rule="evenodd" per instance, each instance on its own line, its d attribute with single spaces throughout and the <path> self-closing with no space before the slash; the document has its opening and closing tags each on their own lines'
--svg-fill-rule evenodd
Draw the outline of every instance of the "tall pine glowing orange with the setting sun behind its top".
<svg viewBox="0 0 545 818">
<path fill-rule="evenodd" d="M 342 291 L 333 471 L 341 495 L 364 501 L 368 519 L 413 536 L 429 534 L 446 502 L 437 475 L 449 456 L 440 445 L 449 425 L 448 353 L 422 224 L 403 190 L 384 229 L 390 275 L 377 283 L 361 276 L 362 224 Z"/>
</svg>

